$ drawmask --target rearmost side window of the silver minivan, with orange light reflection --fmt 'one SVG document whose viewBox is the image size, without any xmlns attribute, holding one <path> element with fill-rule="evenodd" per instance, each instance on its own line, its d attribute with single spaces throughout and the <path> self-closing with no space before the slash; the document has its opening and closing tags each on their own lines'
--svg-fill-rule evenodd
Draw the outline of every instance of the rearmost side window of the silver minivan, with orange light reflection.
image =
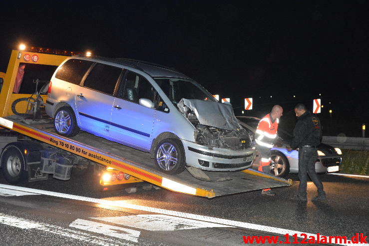
<svg viewBox="0 0 369 246">
<path fill-rule="evenodd" d="M 70 59 L 56 72 L 55 77 L 73 84 L 79 84 L 92 61 Z"/>
</svg>

